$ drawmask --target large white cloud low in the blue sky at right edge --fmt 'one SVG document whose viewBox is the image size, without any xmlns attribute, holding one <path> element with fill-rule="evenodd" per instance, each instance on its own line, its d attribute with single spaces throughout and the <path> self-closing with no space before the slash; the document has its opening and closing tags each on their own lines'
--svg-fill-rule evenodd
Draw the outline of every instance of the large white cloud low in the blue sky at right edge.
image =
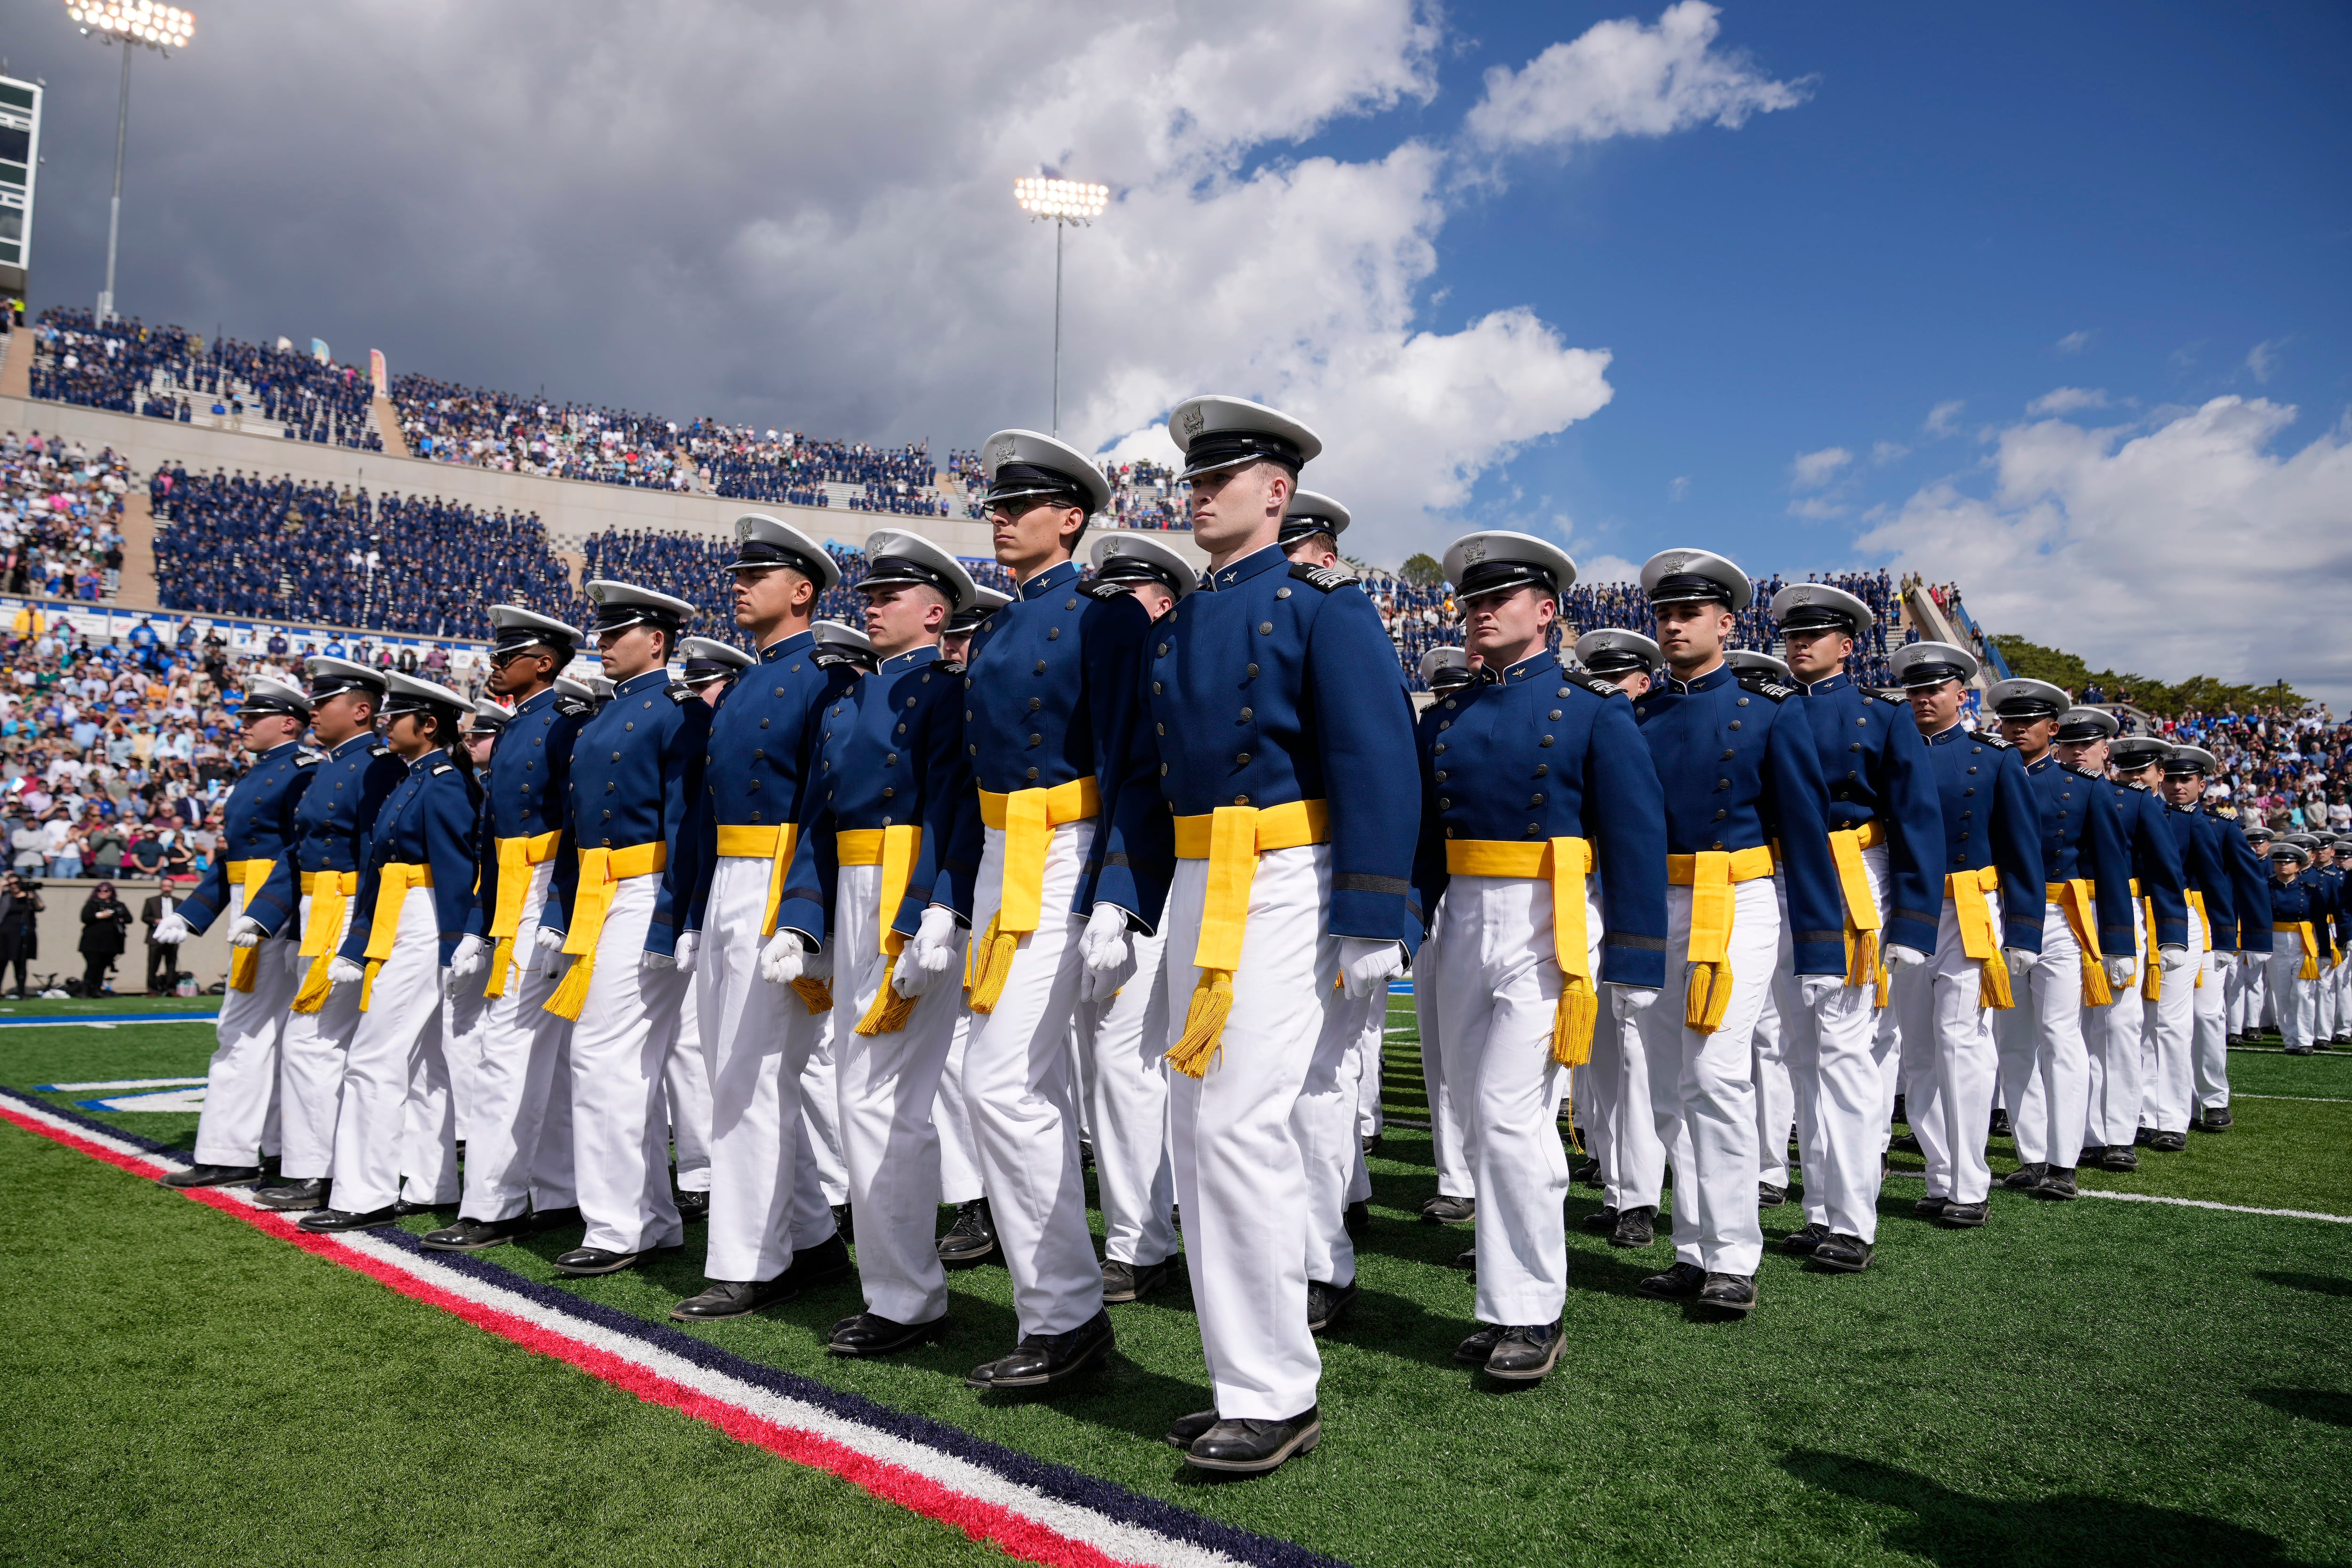
<svg viewBox="0 0 2352 1568">
<path fill-rule="evenodd" d="M 2352 428 L 2277 454 L 2291 404 L 2216 397 L 2159 423 L 1999 433 L 1987 494 L 1917 491 L 1856 541 L 1957 581 L 1992 632 L 2166 679 L 2288 679 L 2343 712 Z"/>
</svg>

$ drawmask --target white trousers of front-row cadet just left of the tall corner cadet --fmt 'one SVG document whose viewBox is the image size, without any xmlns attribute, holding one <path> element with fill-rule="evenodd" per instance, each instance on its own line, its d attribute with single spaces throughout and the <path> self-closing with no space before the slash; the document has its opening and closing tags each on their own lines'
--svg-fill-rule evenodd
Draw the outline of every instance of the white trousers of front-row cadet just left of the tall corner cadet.
<svg viewBox="0 0 2352 1568">
<path fill-rule="evenodd" d="M 988 827 L 971 929 L 985 931 L 1004 893 L 1004 830 Z M 1014 940 L 995 1011 L 969 1013 L 964 1103 L 981 1157 L 988 1218 L 1014 1276 L 1023 1335 L 1070 1333 L 1103 1309 L 1103 1265 L 1087 1229 L 1087 1171 L 1077 1154 L 1077 1063 L 1070 1013 L 1087 957 L 1084 917 L 1070 912 L 1094 851 L 1094 823 L 1065 823 L 1044 851 L 1037 929 Z M 950 976 L 953 980 L 953 976 Z M 953 985 L 950 985 L 953 990 Z"/>
</svg>

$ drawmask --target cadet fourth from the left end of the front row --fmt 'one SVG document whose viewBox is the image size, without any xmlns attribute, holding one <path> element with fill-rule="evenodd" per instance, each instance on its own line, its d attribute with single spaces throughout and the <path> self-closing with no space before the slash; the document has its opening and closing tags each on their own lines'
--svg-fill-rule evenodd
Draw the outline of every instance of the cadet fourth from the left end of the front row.
<svg viewBox="0 0 2352 1568">
<path fill-rule="evenodd" d="M 482 973 L 482 1065 L 456 1225 L 423 1246 L 473 1253 L 579 1218 L 572 1182 L 572 1020 L 548 1011 L 562 964 L 539 943 L 569 802 L 572 743 L 593 705 L 562 696 L 581 635 L 522 604 L 492 604 L 487 689 L 515 710 L 482 783 L 480 889 L 452 980 Z"/>
</svg>

